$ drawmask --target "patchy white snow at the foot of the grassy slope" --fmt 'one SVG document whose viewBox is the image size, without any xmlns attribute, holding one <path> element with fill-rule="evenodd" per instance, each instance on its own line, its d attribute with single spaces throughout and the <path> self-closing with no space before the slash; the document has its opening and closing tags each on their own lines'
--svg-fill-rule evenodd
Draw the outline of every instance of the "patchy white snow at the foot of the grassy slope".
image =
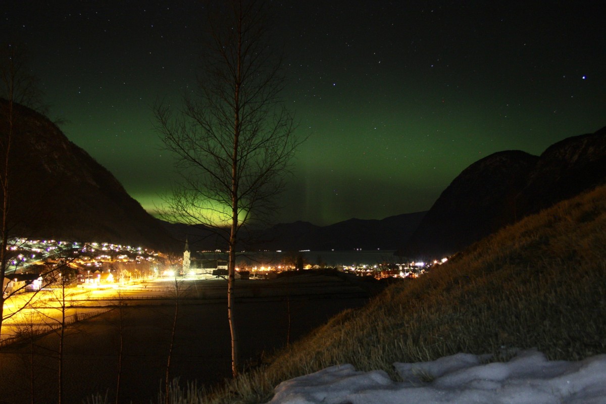
<svg viewBox="0 0 606 404">
<path fill-rule="evenodd" d="M 534 350 L 508 362 L 456 354 L 433 362 L 395 363 L 404 382 L 384 371 L 339 365 L 280 383 L 270 404 L 606 404 L 606 355 L 548 361 Z"/>
</svg>

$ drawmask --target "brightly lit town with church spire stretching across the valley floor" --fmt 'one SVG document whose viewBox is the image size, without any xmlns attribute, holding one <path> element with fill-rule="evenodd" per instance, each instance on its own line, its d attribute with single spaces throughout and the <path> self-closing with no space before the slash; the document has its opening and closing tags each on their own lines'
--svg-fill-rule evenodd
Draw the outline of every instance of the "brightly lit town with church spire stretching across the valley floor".
<svg viewBox="0 0 606 404">
<path fill-rule="evenodd" d="M 57 240 L 10 240 L 3 290 L 5 294 L 39 290 L 57 285 L 101 285 L 161 276 L 211 279 L 227 276 L 227 254 L 222 251 L 190 251 L 187 242 L 182 259 L 141 247 L 112 243 L 63 242 Z M 283 271 L 321 269 L 325 265 L 290 259 L 291 263 L 239 263 L 236 276 L 272 277 Z M 432 263 L 383 263 L 338 265 L 337 270 L 377 279 L 415 278 Z M 299 262 L 301 261 L 301 262 Z M 289 261 L 290 262 L 290 261 Z"/>
</svg>

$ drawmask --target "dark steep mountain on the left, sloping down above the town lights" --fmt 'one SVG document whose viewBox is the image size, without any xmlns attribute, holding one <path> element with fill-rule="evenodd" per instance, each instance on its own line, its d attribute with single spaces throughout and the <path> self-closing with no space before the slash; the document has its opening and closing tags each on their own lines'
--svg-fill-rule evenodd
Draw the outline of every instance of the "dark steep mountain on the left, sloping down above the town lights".
<svg viewBox="0 0 606 404">
<path fill-rule="evenodd" d="M 3 114 L 6 107 L 0 100 Z M 8 191 L 13 235 L 175 250 L 175 241 L 158 221 L 53 122 L 21 105 L 15 105 L 15 118 Z M 2 118 L 2 147 L 7 133 Z"/>
</svg>

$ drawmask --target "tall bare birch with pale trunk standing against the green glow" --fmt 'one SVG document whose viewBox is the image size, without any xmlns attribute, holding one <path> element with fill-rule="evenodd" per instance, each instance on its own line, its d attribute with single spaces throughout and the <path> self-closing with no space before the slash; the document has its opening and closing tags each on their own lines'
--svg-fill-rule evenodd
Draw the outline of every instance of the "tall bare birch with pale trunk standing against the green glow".
<svg viewBox="0 0 606 404">
<path fill-rule="evenodd" d="M 236 242 L 242 229 L 278 208 L 285 174 L 302 140 L 280 93 L 281 59 L 268 38 L 265 2 L 218 2 L 196 90 L 181 110 L 154 107 L 164 147 L 178 159 L 181 184 L 165 198 L 164 219 L 211 228 L 228 251 L 231 369 L 238 374 L 235 322 Z"/>
</svg>

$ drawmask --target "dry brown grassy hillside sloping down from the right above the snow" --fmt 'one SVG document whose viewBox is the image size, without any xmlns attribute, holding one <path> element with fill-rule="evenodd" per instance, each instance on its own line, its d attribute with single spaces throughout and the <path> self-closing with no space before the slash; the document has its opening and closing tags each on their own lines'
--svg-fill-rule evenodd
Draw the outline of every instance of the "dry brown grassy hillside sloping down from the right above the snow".
<svg viewBox="0 0 606 404">
<path fill-rule="evenodd" d="M 536 347 L 567 360 L 606 353 L 605 247 L 606 187 L 599 187 L 390 286 L 204 402 L 266 402 L 282 380 L 337 363 L 395 377 L 393 362 L 461 351 L 499 356 Z"/>
</svg>

